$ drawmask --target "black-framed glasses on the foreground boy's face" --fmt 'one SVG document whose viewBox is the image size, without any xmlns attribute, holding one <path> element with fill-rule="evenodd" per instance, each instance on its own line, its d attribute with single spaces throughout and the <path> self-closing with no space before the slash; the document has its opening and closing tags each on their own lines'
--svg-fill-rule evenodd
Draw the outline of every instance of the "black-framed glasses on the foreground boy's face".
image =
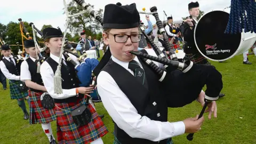
<svg viewBox="0 0 256 144">
<path fill-rule="evenodd" d="M 109 33 L 109 32 L 108 32 Z M 111 33 L 109 33 L 111 34 Z M 126 34 L 111 34 L 115 37 L 116 43 L 125 43 L 127 39 L 130 37 L 131 41 L 133 43 L 137 43 L 140 41 L 142 34 L 132 34 L 132 35 L 126 35 Z"/>
</svg>

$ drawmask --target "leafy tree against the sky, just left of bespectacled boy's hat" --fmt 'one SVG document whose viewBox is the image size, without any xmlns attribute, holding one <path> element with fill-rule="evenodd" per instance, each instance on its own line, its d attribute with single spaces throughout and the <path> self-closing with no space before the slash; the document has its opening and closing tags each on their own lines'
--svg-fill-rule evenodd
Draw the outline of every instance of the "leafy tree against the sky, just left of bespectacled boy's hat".
<svg viewBox="0 0 256 144">
<path fill-rule="evenodd" d="M 93 5 L 91 6 L 94 7 Z M 71 1 L 67 5 L 67 9 L 70 15 L 84 11 L 84 8 L 77 5 L 74 1 Z M 98 11 L 100 15 L 103 15 L 102 12 L 103 12 L 102 9 Z M 95 20 L 88 12 L 77 15 L 73 18 L 70 18 L 68 28 L 70 31 L 73 31 L 76 33 L 79 33 L 85 30 L 85 34 L 87 36 L 95 36 L 95 33 L 97 33 L 97 31 L 99 31 L 100 29 L 102 29 L 100 22 Z"/>
</svg>

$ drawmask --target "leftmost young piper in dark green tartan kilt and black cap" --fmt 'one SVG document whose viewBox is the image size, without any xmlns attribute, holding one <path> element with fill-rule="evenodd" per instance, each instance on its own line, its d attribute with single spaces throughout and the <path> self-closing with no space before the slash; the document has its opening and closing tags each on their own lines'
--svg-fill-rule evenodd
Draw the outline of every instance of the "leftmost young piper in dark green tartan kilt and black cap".
<svg viewBox="0 0 256 144">
<path fill-rule="evenodd" d="M 19 85 L 23 85 L 20 81 L 20 62 L 22 60 L 17 61 L 13 58 L 9 45 L 2 45 L 1 48 L 3 59 L 0 61 L 0 68 L 4 76 L 9 79 L 11 99 L 17 99 L 18 105 L 24 113 L 24 119 L 28 119 L 29 115 L 24 101 L 24 98 L 29 100 L 28 92 L 21 92 L 19 90 Z"/>
</svg>

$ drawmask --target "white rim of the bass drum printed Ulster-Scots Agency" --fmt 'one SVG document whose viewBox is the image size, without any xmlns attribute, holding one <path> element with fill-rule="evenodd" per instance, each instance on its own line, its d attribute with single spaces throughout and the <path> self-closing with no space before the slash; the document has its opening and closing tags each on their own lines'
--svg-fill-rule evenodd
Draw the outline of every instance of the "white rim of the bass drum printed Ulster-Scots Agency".
<svg viewBox="0 0 256 144">
<path fill-rule="evenodd" d="M 210 13 L 210 12 L 213 12 L 213 11 L 222 11 L 222 12 L 228 13 L 228 12 L 227 12 L 228 9 L 230 9 L 230 8 L 226 8 L 226 9 L 213 9 L 213 10 L 211 10 L 211 11 L 209 11 L 209 12 L 206 12 L 204 15 L 206 15 L 206 14 L 208 14 L 208 13 Z M 230 14 L 230 13 L 228 13 L 228 14 Z M 197 23 L 199 23 L 199 21 L 204 17 L 204 15 L 197 21 Z M 244 41 L 244 29 L 243 29 L 243 33 L 241 33 L 241 39 L 240 39 L 240 43 L 239 43 L 239 46 L 238 46 L 237 50 L 236 50 L 232 55 L 230 55 L 230 57 L 228 57 L 228 58 L 226 58 L 226 59 L 221 59 L 221 60 L 211 59 L 211 58 L 207 57 L 206 55 L 204 55 L 204 54 L 201 52 L 201 50 L 199 50 L 199 48 L 198 48 L 198 46 L 197 46 L 197 43 L 196 43 L 196 28 L 197 28 L 197 26 L 198 26 L 198 25 L 195 26 L 195 30 L 194 30 L 194 42 L 195 42 L 195 44 L 196 44 L 196 49 L 199 51 L 199 53 L 201 53 L 205 58 L 207 58 L 207 59 L 209 59 L 209 60 L 212 60 L 212 61 L 226 61 L 226 60 L 228 60 L 228 59 L 231 59 L 231 58 L 235 57 L 235 55 L 239 52 L 239 50 L 241 49 L 241 47 L 242 47 L 242 45 L 243 45 L 242 42 Z"/>
</svg>

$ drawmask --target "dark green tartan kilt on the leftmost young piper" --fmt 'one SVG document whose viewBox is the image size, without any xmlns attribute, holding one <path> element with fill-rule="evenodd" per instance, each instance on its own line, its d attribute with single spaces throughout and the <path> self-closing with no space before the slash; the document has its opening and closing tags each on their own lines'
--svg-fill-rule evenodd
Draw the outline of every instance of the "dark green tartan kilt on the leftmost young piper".
<svg viewBox="0 0 256 144">
<path fill-rule="evenodd" d="M 10 95 L 11 99 L 22 99 L 28 97 L 28 92 L 20 92 L 18 84 L 22 83 L 21 81 L 9 80 L 10 84 Z"/>
</svg>

